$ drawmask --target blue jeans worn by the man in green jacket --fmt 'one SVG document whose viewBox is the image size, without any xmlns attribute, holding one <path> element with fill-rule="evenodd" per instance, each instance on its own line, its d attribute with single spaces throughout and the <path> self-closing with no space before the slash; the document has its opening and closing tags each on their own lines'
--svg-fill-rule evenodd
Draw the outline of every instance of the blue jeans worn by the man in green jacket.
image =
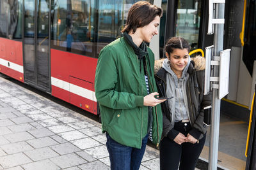
<svg viewBox="0 0 256 170">
<path fill-rule="evenodd" d="M 138 170 L 140 168 L 141 160 L 148 141 L 148 134 L 142 139 L 140 149 L 121 145 L 114 141 L 108 133 L 106 133 L 106 137 L 106 146 L 108 148 L 111 170 Z"/>
</svg>

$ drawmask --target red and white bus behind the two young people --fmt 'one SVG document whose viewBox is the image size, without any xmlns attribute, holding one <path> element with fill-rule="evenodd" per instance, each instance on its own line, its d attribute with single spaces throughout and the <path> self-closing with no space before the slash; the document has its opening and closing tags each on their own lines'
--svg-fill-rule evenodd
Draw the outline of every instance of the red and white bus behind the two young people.
<svg viewBox="0 0 256 170">
<path fill-rule="evenodd" d="M 94 77 L 99 52 L 121 36 L 128 10 L 136 1 L 1 0 L 0 72 L 97 115 Z M 164 10 L 159 34 L 149 45 L 156 59 L 163 57 L 164 42 L 172 36 L 188 39 L 192 50 L 213 44 L 213 36 L 207 35 L 208 1 L 149 2 Z M 246 4 L 245 20 L 244 1 L 225 3 L 223 49 L 232 49 L 226 98 L 246 107 L 256 73 L 256 26 L 250 22 L 256 18 L 255 1 Z M 239 39 L 243 25 L 244 46 Z"/>
</svg>

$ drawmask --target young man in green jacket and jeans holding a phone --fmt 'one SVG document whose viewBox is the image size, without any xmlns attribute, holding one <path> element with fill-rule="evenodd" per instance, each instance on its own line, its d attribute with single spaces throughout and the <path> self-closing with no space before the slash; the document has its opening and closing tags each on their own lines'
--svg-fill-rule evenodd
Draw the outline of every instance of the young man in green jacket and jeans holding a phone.
<svg viewBox="0 0 256 170">
<path fill-rule="evenodd" d="M 95 94 L 111 169 L 139 169 L 148 138 L 157 146 L 161 139 L 163 117 L 157 104 L 165 100 L 156 99 L 154 54 L 145 42 L 158 34 L 162 14 L 146 1 L 133 4 L 124 37 L 100 51 Z"/>
</svg>

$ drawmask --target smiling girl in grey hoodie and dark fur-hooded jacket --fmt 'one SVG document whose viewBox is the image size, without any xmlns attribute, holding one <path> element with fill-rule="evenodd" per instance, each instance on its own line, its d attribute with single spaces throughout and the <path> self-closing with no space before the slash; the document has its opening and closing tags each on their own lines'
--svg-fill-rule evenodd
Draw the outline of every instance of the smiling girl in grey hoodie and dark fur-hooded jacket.
<svg viewBox="0 0 256 170">
<path fill-rule="evenodd" d="M 211 95 L 204 96 L 205 60 L 190 59 L 189 49 L 184 38 L 169 39 L 156 73 L 159 97 L 173 96 L 161 104 L 160 169 L 194 170 L 205 143 L 204 107 L 211 105 Z"/>
</svg>

